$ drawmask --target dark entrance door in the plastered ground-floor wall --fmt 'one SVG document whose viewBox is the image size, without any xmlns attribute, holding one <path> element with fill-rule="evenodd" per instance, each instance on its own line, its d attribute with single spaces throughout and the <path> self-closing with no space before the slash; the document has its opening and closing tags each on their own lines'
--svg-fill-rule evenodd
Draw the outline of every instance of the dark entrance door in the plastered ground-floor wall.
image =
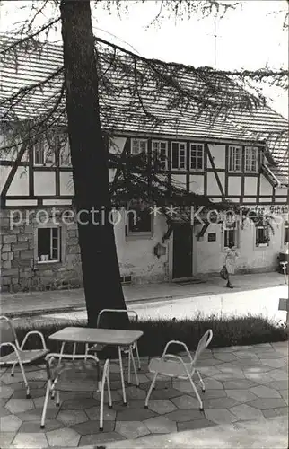
<svg viewBox="0 0 289 449">
<path fill-rule="evenodd" d="M 192 228 L 191 225 L 174 225 L 172 245 L 172 278 L 191 277 L 192 260 Z"/>
</svg>

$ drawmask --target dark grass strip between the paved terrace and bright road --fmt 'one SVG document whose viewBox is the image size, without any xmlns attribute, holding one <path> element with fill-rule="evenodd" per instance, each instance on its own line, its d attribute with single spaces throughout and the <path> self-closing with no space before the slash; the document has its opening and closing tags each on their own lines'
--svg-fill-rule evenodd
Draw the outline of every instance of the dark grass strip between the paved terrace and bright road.
<svg viewBox="0 0 289 449">
<path fill-rule="evenodd" d="M 85 320 L 55 320 L 36 321 L 33 330 L 40 330 L 47 341 L 50 351 L 58 352 L 60 343 L 49 340 L 48 337 L 57 330 L 67 326 L 86 326 Z M 29 321 L 17 323 L 15 321 L 17 336 L 22 341 L 25 333 L 31 330 Z M 141 356 L 161 355 L 166 343 L 171 339 L 178 339 L 186 343 L 189 349 L 194 350 L 197 342 L 208 329 L 213 330 L 213 339 L 210 348 L 222 348 L 230 346 L 254 345 L 258 343 L 273 343 L 288 339 L 288 330 L 277 325 L 273 321 L 262 316 L 252 316 L 248 314 L 244 317 L 209 317 L 198 316 L 194 320 L 180 321 L 139 321 L 138 330 L 143 330 L 144 335 L 138 342 Z M 38 338 L 31 338 L 27 348 L 40 348 Z M 79 344 L 77 352 L 83 352 L 83 345 Z M 66 346 L 66 351 L 71 351 L 72 345 Z M 172 352 L 180 351 L 180 347 L 171 347 Z M 116 357 L 116 351 L 106 349 L 100 357 Z"/>
</svg>

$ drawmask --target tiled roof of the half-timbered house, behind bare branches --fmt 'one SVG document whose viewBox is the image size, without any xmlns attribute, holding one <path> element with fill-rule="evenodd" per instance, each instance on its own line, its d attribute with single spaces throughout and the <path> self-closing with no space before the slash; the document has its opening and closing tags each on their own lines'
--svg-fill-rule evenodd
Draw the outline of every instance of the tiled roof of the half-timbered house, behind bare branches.
<svg viewBox="0 0 289 449">
<path fill-rule="evenodd" d="M 2 38 L 2 47 L 11 43 L 11 40 Z M 156 82 L 153 81 L 152 72 L 147 71 L 143 61 L 138 62 L 140 76 L 139 92 L 143 98 L 143 105 L 138 100 L 134 90 L 134 71 L 132 59 L 127 56 L 118 58 L 118 63 L 111 64 L 107 53 L 101 53 L 101 68 L 105 76 L 101 80 L 101 123 L 106 129 L 118 132 L 156 133 L 169 136 L 188 138 L 208 138 L 212 140 L 237 140 L 242 142 L 264 143 L 273 156 L 274 164 L 270 167 L 272 172 L 281 180 L 288 181 L 288 122 L 276 111 L 267 106 L 257 106 L 253 110 L 238 109 L 231 106 L 230 112 L 219 115 L 214 122 L 208 114 L 197 114 L 197 105 L 189 101 L 189 105 L 182 107 L 171 98 L 169 87 L 163 87 L 162 92 L 156 94 Z M 17 92 L 19 89 L 31 84 L 38 84 L 48 75 L 58 70 L 50 83 L 36 88 L 25 97 L 25 101 L 15 101 L 13 109 L 8 111 L 7 104 L 2 104 L 1 116 L 7 114 L 8 119 L 26 119 L 39 117 L 44 114 L 56 101 L 63 83 L 62 48 L 48 44 L 42 48 L 18 53 L 17 64 L 13 57 L 5 60 L 0 79 L 0 101 Z M 157 62 L 156 62 L 157 66 Z M 169 71 L 170 65 L 165 66 Z M 163 66 L 157 66 L 162 72 Z M 222 95 L 228 97 L 229 102 L 241 101 L 244 90 L 239 84 L 227 77 L 210 72 L 205 75 L 190 73 L 180 67 L 177 76 L 182 89 L 187 89 L 191 95 L 199 96 L 204 92 L 206 98 L 213 95 L 210 89 L 217 86 Z M 247 92 L 246 92 L 247 95 Z M 216 94 L 216 98 L 218 94 Z M 220 99 L 219 99 L 220 100 Z M 65 104 L 63 104 L 65 107 Z M 154 116 L 162 119 L 152 124 L 144 112 L 148 110 Z M 65 122 L 65 116 L 61 119 Z"/>
</svg>

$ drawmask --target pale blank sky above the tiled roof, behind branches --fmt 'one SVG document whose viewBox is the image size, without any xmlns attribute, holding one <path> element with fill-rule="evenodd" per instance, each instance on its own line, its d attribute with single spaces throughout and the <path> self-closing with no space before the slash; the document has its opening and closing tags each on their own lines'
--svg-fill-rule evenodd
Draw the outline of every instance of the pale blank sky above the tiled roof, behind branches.
<svg viewBox="0 0 289 449">
<path fill-rule="evenodd" d="M 2 32 L 9 31 L 13 22 L 27 17 L 22 6 L 30 2 L 1 4 Z M 216 47 L 212 14 L 204 18 L 201 13 L 195 13 L 181 21 L 164 14 L 157 25 L 148 26 L 160 10 L 160 1 L 145 0 L 144 4 L 136 4 L 133 0 L 123 0 L 122 5 L 128 7 L 129 13 L 122 12 L 119 18 L 113 8 L 109 13 L 102 4 L 96 8 L 92 4 L 94 31 L 101 38 L 142 56 L 191 66 L 214 66 L 216 48 L 217 69 L 256 70 L 265 66 L 288 69 L 288 31 L 283 30 L 286 0 L 245 0 L 236 9 L 230 9 L 223 19 L 217 14 Z M 272 99 L 274 109 L 288 117 L 287 92 L 272 87 L 265 87 L 263 92 Z"/>
</svg>

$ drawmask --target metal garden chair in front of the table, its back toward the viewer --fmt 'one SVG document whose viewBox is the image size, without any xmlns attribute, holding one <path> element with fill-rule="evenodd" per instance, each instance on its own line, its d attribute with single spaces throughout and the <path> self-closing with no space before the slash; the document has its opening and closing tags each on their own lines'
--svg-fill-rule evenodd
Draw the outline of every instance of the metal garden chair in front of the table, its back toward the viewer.
<svg viewBox="0 0 289 449">
<path fill-rule="evenodd" d="M 45 427 L 49 394 L 56 396 L 57 407 L 60 404 L 59 392 L 101 392 L 100 430 L 103 430 L 104 388 L 107 383 L 109 409 L 112 408 L 109 385 L 109 359 L 105 361 L 101 382 L 99 378 L 99 359 L 90 354 L 50 353 L 46 357 L 48 383 L 41 416 L 41 428 Z M 54 395 L 56 392 L 56 395 Z"/>
</svg>

